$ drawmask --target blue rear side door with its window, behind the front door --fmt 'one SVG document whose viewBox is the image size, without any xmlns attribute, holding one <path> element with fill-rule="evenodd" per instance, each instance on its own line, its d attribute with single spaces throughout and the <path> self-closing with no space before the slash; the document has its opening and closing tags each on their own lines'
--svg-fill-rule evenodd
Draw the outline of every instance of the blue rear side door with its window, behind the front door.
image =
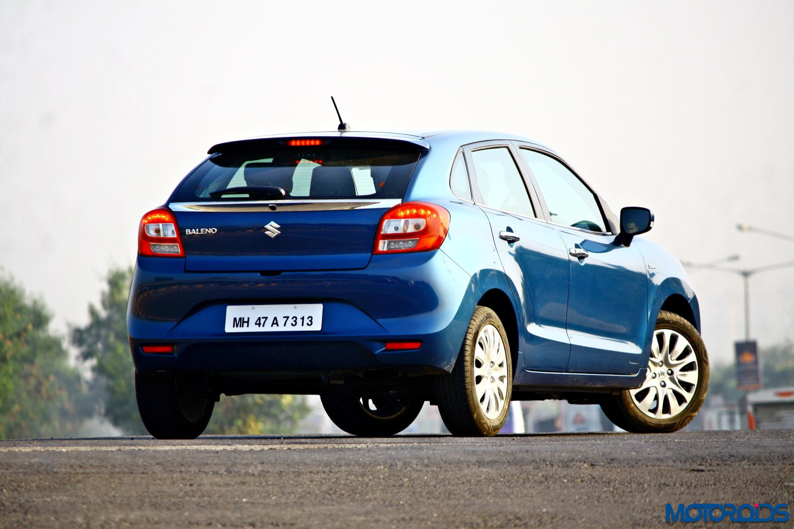
<svg viewBox="0 0 794 529">
<path fill-rule="evenodd" d="M 556 230 L 536 217 L 534 190 L 526 186 L 509 144 L 474 144 L 465 152 L 474 201 L 491 222 L 499 259 L 521 305 L 518 347 L 524 368 L 564 371 L 570 352 L 565 246 Z"/>
</svg>

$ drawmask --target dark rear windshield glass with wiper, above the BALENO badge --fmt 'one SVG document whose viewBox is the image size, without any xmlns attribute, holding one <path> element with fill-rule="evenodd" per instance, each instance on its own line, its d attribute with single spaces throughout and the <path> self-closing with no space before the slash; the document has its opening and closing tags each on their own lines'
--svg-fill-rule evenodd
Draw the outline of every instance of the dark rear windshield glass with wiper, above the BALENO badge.
<svg viewBox="0 0 794 529">
<path fill-rule="evenodd" d="M 413 145 L 396 142 L 288 143 L 210 156 L 183 182 L 173 201 L 402 199 L 419 158 Z M 283 190 L 283 196 L 274 188 Z"/>
</svg>

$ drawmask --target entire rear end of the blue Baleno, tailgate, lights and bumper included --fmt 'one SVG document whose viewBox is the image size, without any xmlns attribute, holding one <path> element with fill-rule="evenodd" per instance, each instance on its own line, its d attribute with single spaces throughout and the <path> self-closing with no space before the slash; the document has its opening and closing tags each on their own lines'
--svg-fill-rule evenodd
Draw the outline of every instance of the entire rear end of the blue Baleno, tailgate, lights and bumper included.
<svg viewBox="0 0 794 529">
<path fill-rule="evenodd" d="M 141 219 L 137 372 L 202 374 L 227 394 L 425 391 L 470 316 L 468 274 L 437 251 L 448 210 L 404 201 L 428 151 L 330 133 L 210 149 Z"/>
</svg>

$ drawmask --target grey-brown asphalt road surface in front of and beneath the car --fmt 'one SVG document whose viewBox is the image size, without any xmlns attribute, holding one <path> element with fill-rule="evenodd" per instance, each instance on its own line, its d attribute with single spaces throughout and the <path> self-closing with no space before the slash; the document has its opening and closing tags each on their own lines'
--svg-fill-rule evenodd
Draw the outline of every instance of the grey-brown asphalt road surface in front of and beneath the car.
<svg viewBox="0 0 794 529">
<path fill-rule="evenodd" d="M 759 502 L 794 506 L 792 430 L 0 442 L 0 527 L 653 527 Z"/>
</svg>

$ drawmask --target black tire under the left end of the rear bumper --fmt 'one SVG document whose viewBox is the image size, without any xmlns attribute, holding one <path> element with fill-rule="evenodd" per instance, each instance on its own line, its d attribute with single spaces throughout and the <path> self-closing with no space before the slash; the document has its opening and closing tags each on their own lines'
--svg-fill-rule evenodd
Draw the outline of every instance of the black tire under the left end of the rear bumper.
<svg viewBox="0 0 794 529">
<path fill-rule="evenodd" d="M 136 372 L 135 397 L 146 430 L 157 439 L 195 439 L 215 405 L 206 381 L 183 374 L 149 378 Z"/>
</svg>

